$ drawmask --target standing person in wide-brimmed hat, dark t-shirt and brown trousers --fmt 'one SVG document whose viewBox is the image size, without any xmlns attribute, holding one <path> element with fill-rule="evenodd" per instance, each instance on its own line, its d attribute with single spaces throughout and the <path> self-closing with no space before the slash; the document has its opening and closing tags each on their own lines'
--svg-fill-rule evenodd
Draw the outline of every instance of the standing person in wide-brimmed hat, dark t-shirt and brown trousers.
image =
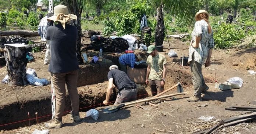
<svg viewBox="0 0 256 134">
<path fill-rule="evenodd" d="M 66 22 L 77 19 L 70 14 L 64 5 L 54 7 L 54 15 L 47 18 L 58 22 L 55 26 L 49 26 L 45 38 L 50 40 L 50 64 L 48 71 L 51 73 L 51 83 L 56 95 L 55 115 L 51 122 L 46 123 L 47 128 L 62 127 L 62 116 L 65 108 L 65 83 L 68 95 L 71 99 L 70 119 L 81 121 L 79 116 L 79 96 L 77 92 L 78 60 L 77 60 L 77 28 Z"/>
</svg>

